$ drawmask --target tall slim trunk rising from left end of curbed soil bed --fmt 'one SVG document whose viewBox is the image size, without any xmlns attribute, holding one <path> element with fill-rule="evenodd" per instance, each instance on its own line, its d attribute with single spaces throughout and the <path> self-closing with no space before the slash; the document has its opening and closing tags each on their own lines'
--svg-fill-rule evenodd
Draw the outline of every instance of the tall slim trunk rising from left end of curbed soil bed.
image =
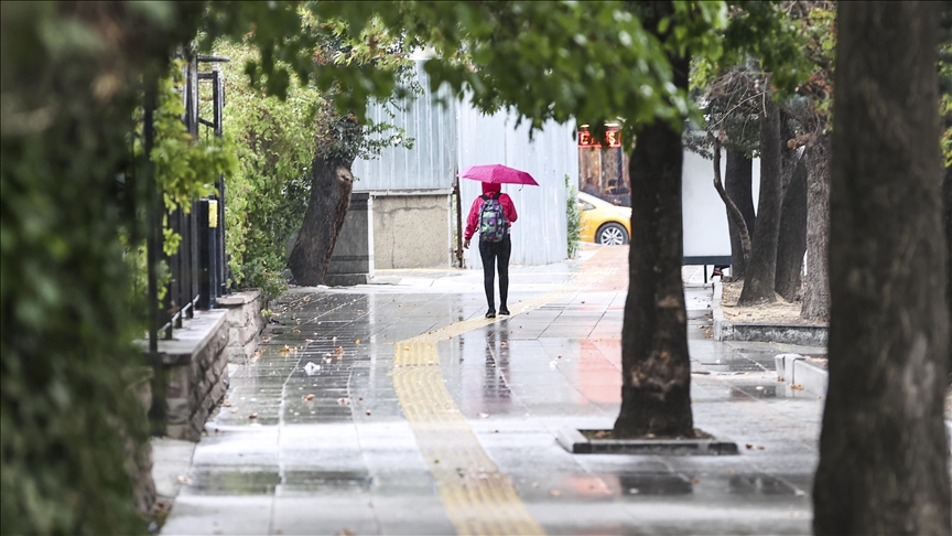
<svg viewBox="0 0 952 536">
<path fill-rule="evenodd" d="M 780 234 L 782 163 L 780 156 L 780 110 L 767 96 L 760 117 L 760 195 L 757 202 L 757 228 L 750 264 L 744 278 L 739 304 L 777 301 L 774 282 L 777 275 L 777 239 Z"/>
</svg>

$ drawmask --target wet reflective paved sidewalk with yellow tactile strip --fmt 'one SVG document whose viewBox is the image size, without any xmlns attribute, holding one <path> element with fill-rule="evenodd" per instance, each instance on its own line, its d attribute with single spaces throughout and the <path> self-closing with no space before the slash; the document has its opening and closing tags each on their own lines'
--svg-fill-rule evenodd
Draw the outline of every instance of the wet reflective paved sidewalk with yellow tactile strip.
<svg viewBox="0 0 952 536">
<path fill-rule="evenodd" d="M 162 533 L 809 533 L 822 400 L 774 371 L 802 349 L 706 337 L 710 287 L 686 289 L 694 421 L 740 454 L 555 442 L 617 415 L 626 250 L 513 268 L 496 321 L 475 270 L 286 292 Z"/>
</svg>

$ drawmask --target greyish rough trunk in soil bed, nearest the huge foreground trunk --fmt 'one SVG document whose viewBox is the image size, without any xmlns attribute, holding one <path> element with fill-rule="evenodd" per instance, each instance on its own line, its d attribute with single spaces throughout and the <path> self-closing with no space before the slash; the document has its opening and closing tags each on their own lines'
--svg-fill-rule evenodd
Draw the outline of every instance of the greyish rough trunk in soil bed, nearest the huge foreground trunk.
<svg viewBox="0 0 952 536">
<path fill-rule="evenodd" d="M 830 138 L 820 135 L 807 148 L 807 285 L 800 317 L 830 320 Z"/>
</svg>

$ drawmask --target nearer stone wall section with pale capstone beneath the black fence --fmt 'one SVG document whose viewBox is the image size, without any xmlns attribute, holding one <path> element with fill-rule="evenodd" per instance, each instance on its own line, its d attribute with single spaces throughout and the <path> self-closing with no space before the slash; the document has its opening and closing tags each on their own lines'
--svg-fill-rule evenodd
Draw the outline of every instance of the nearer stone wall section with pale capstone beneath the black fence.
<svg viewBox="0 0 952 536">
<path fill-rule="evenodd" d="M 196 311 L 160 341 L 165 379 L 165 436 L 197 441 L 205 421 L 228 388 L 228 310 Z"/>
</svg>

